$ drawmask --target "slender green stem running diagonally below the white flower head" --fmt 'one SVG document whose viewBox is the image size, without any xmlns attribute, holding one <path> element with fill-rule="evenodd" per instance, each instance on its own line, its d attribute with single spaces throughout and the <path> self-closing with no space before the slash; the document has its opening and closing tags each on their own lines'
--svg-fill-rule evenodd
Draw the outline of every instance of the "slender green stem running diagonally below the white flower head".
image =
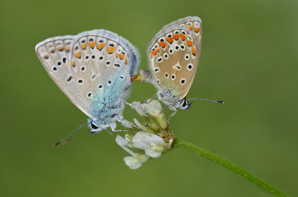
<svg viewBox="0 0 298 197">
<path fill-rule="evenodd" d="M 264 181 L 260 177 L 254 175 L 253 173 L 247 171 L 246 169 L 240 167 L 239 165 L 237 165 L 237 164 L 235 164 L 235 163 L 233 163 L 217 154 L 207 151 L 204 148 L 201 148 L 201 147 L 196 146 L 192 143 L 189 143 L 189 142 L 186 142 L 183 140 L 179 140 L 179 139 L 174 140 L 173 146 L 175 146 L 175 145 L 185 148 L 187 150 L 193 151 L 194 153 L 197 153 L 197 154 L 207 158 L 208 160 L 211 160 L 211 161 L 229 169 L 230 171 L 235 172 L 236 174 L 242 176 L 243 178 L 245 178 L 245 179 L 249 180 L 250 182 L 254 183 L 255 185 L 259 186 L 263 190 L 266 190 L 267 192 L 273 194 L 274 196 L 290 197 L 287 194 L 283 193 L 281 190 L 279 190 L 276 187 L 274 187 L 273 185 L 271 185 L 270 183 Z"/>
</svg>

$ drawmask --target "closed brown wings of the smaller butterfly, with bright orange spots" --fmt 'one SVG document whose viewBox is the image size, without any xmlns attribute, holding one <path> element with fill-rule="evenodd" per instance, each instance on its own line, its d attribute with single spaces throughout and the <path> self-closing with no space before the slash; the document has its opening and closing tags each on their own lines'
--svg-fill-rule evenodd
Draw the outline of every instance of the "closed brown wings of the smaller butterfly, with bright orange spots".
<svg viewBox="0 0 298 197">
<path fill-rule="evenodd" d="M 198 67 L 201 19 L 186 17 L 164 26 L 149 44 L 151 69 L 164 90 L 184 98 Z"/>
</svg>

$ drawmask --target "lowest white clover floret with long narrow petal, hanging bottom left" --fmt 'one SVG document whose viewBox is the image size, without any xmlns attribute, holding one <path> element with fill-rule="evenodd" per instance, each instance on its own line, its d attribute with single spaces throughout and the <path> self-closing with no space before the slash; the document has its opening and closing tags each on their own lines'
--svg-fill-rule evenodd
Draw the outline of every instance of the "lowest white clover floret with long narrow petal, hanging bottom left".
<svg viewBox="0 0 298 197">
<path fill-rule="evenodd" d="M 149 156 L 145 154 L 134 153 L 131 149 L 125 147 L 128 146 L 129 141 L 125 140 L 120 135 L 117 135 L 116 142 L 125 151 L 132 155 L 132 157 L 124 157 L 125 164 L 132 170 L 137 169 L 143 165 L 144 162 L 149 160 Z"/>
</svg>

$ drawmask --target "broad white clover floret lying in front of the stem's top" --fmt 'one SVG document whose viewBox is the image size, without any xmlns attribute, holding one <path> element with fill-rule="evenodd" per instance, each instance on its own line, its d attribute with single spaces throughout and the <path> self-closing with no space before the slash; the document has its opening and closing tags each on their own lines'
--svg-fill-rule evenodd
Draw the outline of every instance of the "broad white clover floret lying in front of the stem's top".
<svg viewBox="0 0 298 197">
<path fill-rule="evenodd" d="M 167 145 L 161 137 L 142 131 L 134 135 L 132 143 L 136 148 L 145 150 L 145 154 L 152 158 L 161 157 L 167 149 Z"/>
</svg>

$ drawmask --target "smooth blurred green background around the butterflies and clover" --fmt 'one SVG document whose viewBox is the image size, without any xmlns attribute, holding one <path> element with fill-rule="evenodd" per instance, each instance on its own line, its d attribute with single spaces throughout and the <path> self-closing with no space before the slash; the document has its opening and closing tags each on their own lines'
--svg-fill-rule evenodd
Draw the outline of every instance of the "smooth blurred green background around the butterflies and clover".
<svg viewBox="0 0 298 197">
<path fill-rule="evenodd" d="M 38 42 L 108 29 L 140 49 L 146 69 L 153 36 L 172 21 L 199 16 L 201 59 L 188 98 L 226 103 L 194 100 L 179 110 L 171 120 L 176 137 L 298 196 L 297 10 L 298 1 L 1 1 L 0 195 L 271 196 L 182 148 L 130 170 L 123 162 L 130 155 L 115 138 L 90 135 L 86 126 L 53 148 L 87 117 L 46 73 Z M 128 101 L 155 92 L 134 83 Z M 140 120 L 130 107 L 124 117 Z"/>
</svg>

